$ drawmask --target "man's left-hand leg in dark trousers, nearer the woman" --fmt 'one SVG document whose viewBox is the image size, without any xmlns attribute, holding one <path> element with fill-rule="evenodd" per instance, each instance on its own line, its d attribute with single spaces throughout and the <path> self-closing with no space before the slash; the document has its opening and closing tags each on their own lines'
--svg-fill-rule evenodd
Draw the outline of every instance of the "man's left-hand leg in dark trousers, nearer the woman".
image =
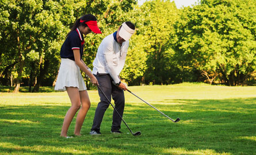
<svg viewBox="0 0 256 155">
<path fill-rule="evenodd" d="M 104 91 L 109 100 L 111 100 L 111 80 L 107 74 L 97 74 L 94 75 L 97 78 L 98 83 L 100 84 L 101 90 Z M 98 106 L 95 110 L 95 115 L 93 119 L 93 126 L 91 127 L 91 131 L 100 132 L 100 126 L 102 119 L 104 117 L 106 109 L 109 107 L 109 102 L 106 97 L 102 94 L 100 90 L 98 90 L 98 94 L 100 95 L 101 102 L 98 103 Z"/>
</svg>

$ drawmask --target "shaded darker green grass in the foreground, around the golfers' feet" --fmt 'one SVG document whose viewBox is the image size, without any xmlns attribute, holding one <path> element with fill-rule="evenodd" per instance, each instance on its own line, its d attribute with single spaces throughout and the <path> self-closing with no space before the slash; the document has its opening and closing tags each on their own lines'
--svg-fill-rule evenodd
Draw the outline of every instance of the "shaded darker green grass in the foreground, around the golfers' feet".
<svg viewBox="0 0 256 155">
<path fill-rule="evenodd" d="M 147 104 L 127 104 L 124 120 L 133 132 L 142 132 L 140 137 L 133 137 L 124 123 L 121 130 L 125 134 L 110 134 L 112 107 L 102 121 L 102 135 L 89 135 L 94 105 L 83 124 L 84 136 L 72 139 L 59 137 L 67 106 L 5 106 L 0 108 L 0 151 L 6 154 L 255 154 L 255 101 L 256 98 L 174 99 L 163 101 L 169 105 L 154 104 L 169 117 L 181 118 L 178 123 Z M 69 135 L 74 131 L 74 124 L 75 119 Z"/>
</svg>

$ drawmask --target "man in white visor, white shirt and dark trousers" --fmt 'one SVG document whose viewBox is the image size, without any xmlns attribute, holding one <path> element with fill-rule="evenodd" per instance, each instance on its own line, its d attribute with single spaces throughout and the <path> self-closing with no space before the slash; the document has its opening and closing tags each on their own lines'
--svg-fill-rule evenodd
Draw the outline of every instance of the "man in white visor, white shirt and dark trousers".
<svg viewBox="0 0 256 155">
<path fill-rule="evenodd" d="M 129 47 L 129 38 L 135 32 L 135 25 L 132 22 L 124 22 L 117 32 L 109 34 L 102 40 L 100 47 L 98 47 L 97 55 L 93 61 L 93 74 L 100 84 L 101 90 L 106 94 L 109 100 L 111 96 L 114 100 L 114 107 L 118 113 L 123 117 L 124 113 L 124 90 L 127 87 L 121 83 L 119 74 L 124 67 L 127 50 Z M 101 134 L 100 126 L 104 113 L 109 107 L 109 102 L 98 90 L 100 95 L 100 102 L 95 110 L 93 126 L 90 134 Z M 112 133 L 121 133 L 121 118 L 113 110 Z"/>
</svg>

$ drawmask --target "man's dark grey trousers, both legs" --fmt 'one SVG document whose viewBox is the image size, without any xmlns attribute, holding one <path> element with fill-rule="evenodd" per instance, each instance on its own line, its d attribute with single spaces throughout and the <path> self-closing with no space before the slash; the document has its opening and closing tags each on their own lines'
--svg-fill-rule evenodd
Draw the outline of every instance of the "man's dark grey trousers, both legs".
<svg viewBox="0 0 256 155">
<path fill-rule="evenodd" d="M 112 83 L 112 78 L 108 73 L 97 73 L 97 75 L 94 75 L 95 78 L 97 78 L 98 83 L 100 84 L 101 90 L 104 91 L 104 94 L 108 97 L 108 99 L 111 101 L 111 96 L 114 100 L 114 107 L 118 111 L 118 113 L 123 117 L 124 113 L 124 91 L 120 90 L 117 86 L 115 86 Z M 98 90 L 98 94 L 100 95 L 101 102 L 98 103 L 98 106 L 95 110 L 95 115 L 93 119 L 93 126 L 91 127 L 91 131 L 100 131 L 100 126 L 102 119 L 104 117 L 106 109 L 109 107 L 109 102 L 102 94 L 100 90 Z M 121 121 L 122 119 L 119 117 L 119 115 L 116 113 L 115 110 L 113 110 L 113 122 L 111 131 L 117 131 L 121 129 Z"/>
</svg>

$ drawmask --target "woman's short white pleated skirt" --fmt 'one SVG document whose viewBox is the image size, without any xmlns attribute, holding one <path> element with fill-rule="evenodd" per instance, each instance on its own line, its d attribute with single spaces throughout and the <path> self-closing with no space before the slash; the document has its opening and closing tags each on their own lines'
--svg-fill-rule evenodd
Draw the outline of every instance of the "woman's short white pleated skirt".
<svg viewBox="0 0 256 155">
<path fill-rule="evenodd" d="M 77 87 L 79 91 L 86 90 L 78 65 L 73 60 L 62 58 L 54 90 L 65 91 L 66 87 Z"/>
</svg>

